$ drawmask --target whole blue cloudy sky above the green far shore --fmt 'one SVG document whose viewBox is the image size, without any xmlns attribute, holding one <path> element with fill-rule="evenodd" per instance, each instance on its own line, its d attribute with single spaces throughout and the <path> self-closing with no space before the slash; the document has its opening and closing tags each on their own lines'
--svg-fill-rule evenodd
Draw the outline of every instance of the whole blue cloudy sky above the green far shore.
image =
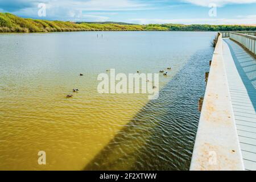
<svg viewBox="0 0 256 182">
<path fill-rule="evenodd" d="M 73 22 L 256 24 L 256 0 L 0 0 L 0 12 Z"/>
</svg>

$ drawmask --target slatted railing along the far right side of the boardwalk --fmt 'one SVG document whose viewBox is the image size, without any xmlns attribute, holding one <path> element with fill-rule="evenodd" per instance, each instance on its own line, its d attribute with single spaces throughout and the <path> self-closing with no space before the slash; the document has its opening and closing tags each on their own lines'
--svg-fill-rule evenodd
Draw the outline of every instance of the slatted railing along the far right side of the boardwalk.
<svg viewBox="0 0 256 182">
<path fill-rule="evenodd" d="M 240 43 L 243 47 L 245 47 L 248 51 L 253 53 L 253 55 L 256 55 L 256 36 L 249 35 L 249 33 L 254 35 L 256 32 L 246 32 L 247 34 L 244 34 L 242 32 L 230 32 L 229 38 Z"/>
</svg>

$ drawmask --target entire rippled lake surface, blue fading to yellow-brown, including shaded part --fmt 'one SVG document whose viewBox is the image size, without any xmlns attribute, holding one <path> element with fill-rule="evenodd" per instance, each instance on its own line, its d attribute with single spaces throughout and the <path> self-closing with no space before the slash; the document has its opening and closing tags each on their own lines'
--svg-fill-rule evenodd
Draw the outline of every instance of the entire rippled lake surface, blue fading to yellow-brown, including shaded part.
<svg viewBox="0 0 256 182">
<path fill-rule="evenodd" d="M 187 170 L 214 35 L 0 34 L 0 169 Z M 97 76 L 106 69 L 167 67 L 158 100 L 97 92 Z M 39 151 L 46 152 L 46 165 L 38 164 Z"/>
</svg>

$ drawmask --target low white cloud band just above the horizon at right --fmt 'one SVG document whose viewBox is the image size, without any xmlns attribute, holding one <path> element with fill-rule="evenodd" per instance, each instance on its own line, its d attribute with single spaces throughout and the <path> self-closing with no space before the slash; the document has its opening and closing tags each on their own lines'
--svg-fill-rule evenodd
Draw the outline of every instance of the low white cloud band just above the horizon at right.
<svg viewBox="0 0 256 182">
<path fill-rule="evenodd" d="M 179 23 L 179 24 L 255 24 L 256 15 L 236 19 L 213 19 L 213 18 L 193 18 L 193 19 L 130 19 L 130 23 L 138 24 L 164 24 L 164 23 Z"/>
</svg>

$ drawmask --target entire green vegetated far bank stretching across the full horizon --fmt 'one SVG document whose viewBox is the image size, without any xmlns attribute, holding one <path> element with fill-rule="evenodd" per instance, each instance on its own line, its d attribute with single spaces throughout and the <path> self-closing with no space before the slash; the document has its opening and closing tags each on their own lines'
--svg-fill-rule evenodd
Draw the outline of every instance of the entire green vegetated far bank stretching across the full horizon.
<svg viewBox="0 0 256 182">
<path fill-rule="evenodd" d="M 255 26 L 208 24 L 121 24 L 79 23 L 20 18 L 0 13 L 0 32 L 63 32 L 63 31 L 256 31 Z"/>
</svg>

